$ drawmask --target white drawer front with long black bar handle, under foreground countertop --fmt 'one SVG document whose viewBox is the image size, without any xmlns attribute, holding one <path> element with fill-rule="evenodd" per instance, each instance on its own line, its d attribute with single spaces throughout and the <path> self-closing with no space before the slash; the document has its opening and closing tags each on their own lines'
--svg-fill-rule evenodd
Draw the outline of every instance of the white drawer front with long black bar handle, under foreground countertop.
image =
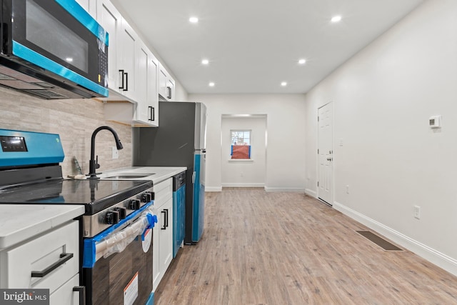
<svg viewBox="0 0 457 305">
<path fill-rule="evenodd" d="M 63 264 L 61 254 L 73 254 Z M 56 269 L 42 277 L 31 276 L 32 271 L 44 271 L 56 264 Z M 78 221 L 61 226 L 33 241 L 1 253 L 4 288 L 49 289 L 52 294 L 79 271 Z M 4 269 L 4 267 L 6 267 Z"/>
</svg>

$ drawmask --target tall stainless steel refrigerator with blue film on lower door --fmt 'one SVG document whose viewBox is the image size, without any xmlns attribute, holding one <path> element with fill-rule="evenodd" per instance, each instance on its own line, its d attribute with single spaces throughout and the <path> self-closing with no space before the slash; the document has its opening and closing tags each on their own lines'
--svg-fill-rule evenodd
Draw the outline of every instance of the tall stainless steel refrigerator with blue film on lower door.
<svg viewBox="0 0 457 305">
<path fill-rule="evenodd" d="M 134 166 L 186 166 L 186 236 L 198 242 L 204 231 L 206 106 L 159 101 L 159 127 L 134 128 Z"/>
</svg>

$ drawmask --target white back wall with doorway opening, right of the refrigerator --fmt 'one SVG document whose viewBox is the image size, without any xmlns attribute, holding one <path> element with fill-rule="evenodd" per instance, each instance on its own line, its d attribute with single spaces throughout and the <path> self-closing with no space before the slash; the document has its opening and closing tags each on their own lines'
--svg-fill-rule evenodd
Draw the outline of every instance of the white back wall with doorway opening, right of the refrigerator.
<svg viewBox="0 0 457 305">
<path fill-rule="evenodd" d="M 221 190 L 222 114 L 266 114 L 267 191 L 304 191 L 305 96 L 303 94 L 189 94 L 208 107 L 206 190 Z"/>
</svg>

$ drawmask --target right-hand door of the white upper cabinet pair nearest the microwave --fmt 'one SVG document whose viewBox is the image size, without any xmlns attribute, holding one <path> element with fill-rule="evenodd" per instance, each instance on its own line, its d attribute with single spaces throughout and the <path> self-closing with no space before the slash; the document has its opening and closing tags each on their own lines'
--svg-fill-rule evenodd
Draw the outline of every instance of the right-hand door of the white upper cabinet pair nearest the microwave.
<svg viewBox="0 0 457 305">
<path fill-rule="evenodd" d="M 136 44 L 138 36 L 125 19 L 121 22 L 121 31 L 118 36 L 119 93 L 136 101 Z"/>
</svg>

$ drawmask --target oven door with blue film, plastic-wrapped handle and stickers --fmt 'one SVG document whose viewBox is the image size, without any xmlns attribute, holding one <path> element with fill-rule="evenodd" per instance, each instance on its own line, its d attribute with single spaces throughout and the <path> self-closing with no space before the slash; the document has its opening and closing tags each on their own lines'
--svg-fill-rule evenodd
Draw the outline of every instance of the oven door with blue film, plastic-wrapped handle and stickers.
<svg viewBox="0 0 457 305">
<path fill-rule="evenodd" d="M 151 203 L 123 229 L 108 229 L 108 233 L 84 240 L 87 304 L 148 302 L 152 294 L 152 227 L 157 220 Z"/>
</svg>

